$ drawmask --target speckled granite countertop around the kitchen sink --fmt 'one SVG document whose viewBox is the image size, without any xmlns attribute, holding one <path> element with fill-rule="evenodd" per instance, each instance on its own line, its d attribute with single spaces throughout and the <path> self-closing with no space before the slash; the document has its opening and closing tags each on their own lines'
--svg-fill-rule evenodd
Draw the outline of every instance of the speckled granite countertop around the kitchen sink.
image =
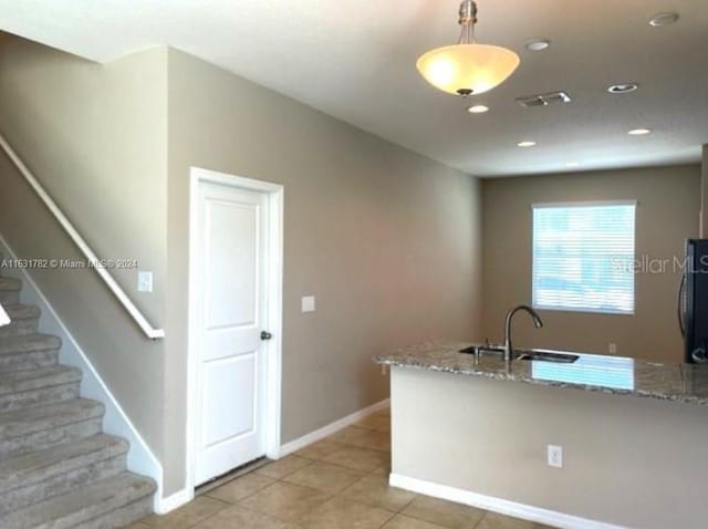
<svg viewBox="0 0 708 529">
<path fill-rule="evenodd" d="M 708 405 L 708 365 L 647 362 L 622 356 L 581 354 L 571 364 L 460 353 L 469 342 L 436 341 L 391 351 L 374 363 L 414 367 L 500 381 L 514 381 L 586 391 L 637 395 Z"/>
</svg>

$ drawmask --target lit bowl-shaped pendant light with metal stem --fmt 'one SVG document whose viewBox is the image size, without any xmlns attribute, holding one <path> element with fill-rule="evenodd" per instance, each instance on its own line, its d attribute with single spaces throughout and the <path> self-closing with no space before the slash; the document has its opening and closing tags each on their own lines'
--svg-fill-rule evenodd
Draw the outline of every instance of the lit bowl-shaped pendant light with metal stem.
<svg viewBox="0 0 708 529">
<path fill-rule="evenodd" d="M 418 59 L 416 66 L 420 75 L 436 89 L 462 96 L 481 94 L 503 83 L 519 66 L 519 55 L 511 50 L 478 44 L 476 23 L 477 3 L 464 0 L 459 11 L 462 27 L 459 42 L 431 50 Z"/>
</svg>

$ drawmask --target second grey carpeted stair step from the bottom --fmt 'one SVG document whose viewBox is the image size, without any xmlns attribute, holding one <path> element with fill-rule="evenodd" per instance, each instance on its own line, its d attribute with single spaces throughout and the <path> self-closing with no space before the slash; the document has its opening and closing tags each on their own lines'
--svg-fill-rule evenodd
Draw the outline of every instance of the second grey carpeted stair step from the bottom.
<svg viewBox="0 0 708 529">
<path fill-rule="evenodd" d="M 125 470 L 128 443 L 98 434 L 0 461 L 0 517 Z"/>
</svg>

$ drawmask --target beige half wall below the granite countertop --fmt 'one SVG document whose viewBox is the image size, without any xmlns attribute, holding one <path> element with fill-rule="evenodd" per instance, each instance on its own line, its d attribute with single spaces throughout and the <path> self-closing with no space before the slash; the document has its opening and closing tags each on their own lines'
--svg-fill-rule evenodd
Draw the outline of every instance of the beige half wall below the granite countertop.
<svg viewBox="0 0 708 529">
<path fill-rule="evenodd" d="M 620 527 L 706 527 L 707 406 L 408 367 L 392 401 L 394 474 Z"/>
</svg>

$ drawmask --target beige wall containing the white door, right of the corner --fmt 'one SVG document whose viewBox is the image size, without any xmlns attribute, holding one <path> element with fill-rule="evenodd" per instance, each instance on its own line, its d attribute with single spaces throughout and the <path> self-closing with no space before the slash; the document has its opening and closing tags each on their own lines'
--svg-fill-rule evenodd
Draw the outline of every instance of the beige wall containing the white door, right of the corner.
<svg viewBox="0 0 708 529">
<path fill-rule="evenodd" d="M 166 387 L 175 434 L 186 398 L 190 166 L 284 185 L 283 443 L 385 398 L 376 352 L 478 334 L 476 178 L 170 50 Z M 316 295 L 315 313 L 300 312 L 305 294 Z M 171 468 L 184 446 L 174 439 L 168 449 Z"/>
</svg>

